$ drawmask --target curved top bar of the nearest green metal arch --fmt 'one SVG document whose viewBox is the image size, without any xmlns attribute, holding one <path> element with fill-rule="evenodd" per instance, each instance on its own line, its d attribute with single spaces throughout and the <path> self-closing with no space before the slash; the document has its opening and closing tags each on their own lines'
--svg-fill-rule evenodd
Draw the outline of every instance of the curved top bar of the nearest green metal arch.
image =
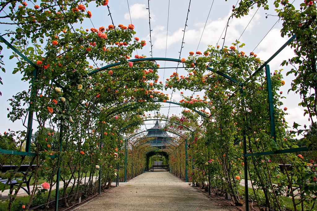
<svg viewBox="0 0 317 211">
<path fill-rule="evenodd" d="M 138 62 L 138 61 L 170 61 L 170 62 L 183 63 L 183 62 L 181 62 L 180 59 L 160 58 L 160 57 L 142 58 L 142 59 L 130 59 L 130 60 L 128 60 L 128 61 L 130 61 L 130 62 Z M 108 68 L 110 68 L 110 67 L 114 67 L 114 66 L 117 66 L 117 65 L 120 65 L 120 64 L 121 64 L 121 62 L 113 63 L 113 64 L 110 64 L 110 65 L 106 65 L 106 66 L 101 67 L 101 68 L 99 68 L 99 69 L 97 69 L 97 70 L 91 71 L 91 72 L 88 73 L 87 75 L 90 76 L 90 75 L 93 75 L 93 74 L 95 74 L 95 73 L 97 73 L 97 72 L 106 70 L 106 69 L 108 69 Z M 196 63 L 194 63 L 194 64 L 196 64 Z M 222 72 L 214 71 L 211 67 L 207 67 L 207 70 L 212 71 L 212 72 L 215 72 L 215 73 L 217 73 L 218 75 L 221 75 L 221 76 L 223 76 L 224 78 L 229 79 L 231 82 L 240 85 L 240 83 L 239 83 L 238 81 L 236 81 L 235 79 L 231 78 L 230 76 L 228 76 L 228 75 L 226 75 L 226 74 L 224 74 L 224 73 L 222 73 Z"/>
</svg>

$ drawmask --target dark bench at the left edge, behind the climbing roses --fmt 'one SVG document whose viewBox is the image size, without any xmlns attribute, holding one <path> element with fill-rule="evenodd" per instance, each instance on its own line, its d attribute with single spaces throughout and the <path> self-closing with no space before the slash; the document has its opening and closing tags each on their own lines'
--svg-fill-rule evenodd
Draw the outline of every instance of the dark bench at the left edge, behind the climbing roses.
<svg viewBox="0 0 317 211">
<path fill-rule="evenodd" d="M 16 170 L 18 166 L 16 165 L 3 165 L 1 166 L 0 170 L 1 170 L 1 173 L 13 173 L 13 171 Z M 31 166 L 31 170 L 34 169 L 36 167 L 36 165 L 32 165 Z M 11 180 L 10 179 L 4 179 L 4 178 L 0 178 L 0 182 L 3 183 L 3 184 L 8 184 L 10 185 L 10 188 L 13 188 L 13 186 L 19 186 L 20 183 L 25 183 L 26 184 L 26 188 L 21 186 L 21 188 L 27 192 L 27 194 L 31 194 L 31 191 L 30 191 L 30 180 L 31 180 L 31 177 L 32 177 L 32 174 L 30 174 L 30 172 L 28 171 L 28 168 L 29 168 L 29 165 L 21 165 L 19 167 L 19 169 L 17 170 L 17 173 L 22 173 L 23 176 L 27 176 L 25 180 L 22 181 L 22 179 L 18 179 L 18 178 L 12 178 Z M 11 170 L 11 171 L 10 171 Z M 13 171 L 12 171 L 13 170 Z M 9 171 L 9 172 L 8 172 Z M 1 176 L 1 175 L 0 175 Z"/>
</svg>

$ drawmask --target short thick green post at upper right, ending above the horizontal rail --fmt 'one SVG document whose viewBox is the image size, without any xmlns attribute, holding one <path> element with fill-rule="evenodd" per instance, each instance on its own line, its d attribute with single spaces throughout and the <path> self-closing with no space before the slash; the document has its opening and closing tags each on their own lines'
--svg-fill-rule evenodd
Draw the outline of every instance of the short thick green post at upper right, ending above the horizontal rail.
<svg viewBox="0 0 317 211">
<path fill-rule="evenodd" d="M 276 142 L 276 131 L 275 131 L 275 120 L 274 120 L 274 107 L 273 107 L 273 92 L 272 92 L 272 82 L 271 82 L 271 73 L 270 66 L 265 65 L 265 75 L 266 75 L 266 84 L 268 91 L 268 110 L 270 115 L 270 130 L 271 138 Z"/>
</svg>

